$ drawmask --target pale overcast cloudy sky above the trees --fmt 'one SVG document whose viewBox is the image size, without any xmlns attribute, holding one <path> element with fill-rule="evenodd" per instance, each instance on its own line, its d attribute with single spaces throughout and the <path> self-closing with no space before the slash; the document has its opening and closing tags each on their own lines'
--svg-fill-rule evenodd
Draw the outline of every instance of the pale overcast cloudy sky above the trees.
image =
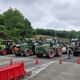
<svg viewBox="0 0 80 80">
<path fill-rule="evenodd" d="M 0 0 L 0 13 L 17 8 L 34 29 L 80 31 L 80 0 Z"/>
</svg>

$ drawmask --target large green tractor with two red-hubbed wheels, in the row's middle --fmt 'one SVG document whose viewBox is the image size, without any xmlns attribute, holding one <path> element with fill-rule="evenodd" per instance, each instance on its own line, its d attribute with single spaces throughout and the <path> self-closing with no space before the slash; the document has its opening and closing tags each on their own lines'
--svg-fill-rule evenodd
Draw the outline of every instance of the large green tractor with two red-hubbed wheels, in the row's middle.
<svg viewBox="0 0 80 80">
<path fill-rule="evenodd" d="M 62 55 L 62 52 L 60 50 L 61 50 L 60 47 L 54 48 L 52 43 L 38 45 L 36 47 L 36 55 L 38 57 L 46 56 L 48 58 L 53 58 L 54 56 L 61 56 Z"/>
</svg>

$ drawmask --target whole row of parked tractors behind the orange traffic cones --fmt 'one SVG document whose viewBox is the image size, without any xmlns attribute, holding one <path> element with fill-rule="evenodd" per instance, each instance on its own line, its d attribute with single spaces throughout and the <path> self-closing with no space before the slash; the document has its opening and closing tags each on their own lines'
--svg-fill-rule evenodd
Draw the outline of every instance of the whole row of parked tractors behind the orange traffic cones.
<svg viewBox="0 0 80 80">
<path fill-rule="evenodd" d="M 33 41 L 27 40 L 24 43 L 15 44 L 13 40 L 4 40 L 0 43 L 0 55 L 15 54 L 16 56 L 30 56 L 37 55 L 38 57 L 52 58 L 54 56 L 61 56 L 63 53 L 67 54 L 67 47 L 63 43 L 56 41 Z M 72 47 L 73 55 L 76 56 L 79 51 L 74 50 Z M 77 52 L 76 52 L 77 51 Z"/>
</svg>

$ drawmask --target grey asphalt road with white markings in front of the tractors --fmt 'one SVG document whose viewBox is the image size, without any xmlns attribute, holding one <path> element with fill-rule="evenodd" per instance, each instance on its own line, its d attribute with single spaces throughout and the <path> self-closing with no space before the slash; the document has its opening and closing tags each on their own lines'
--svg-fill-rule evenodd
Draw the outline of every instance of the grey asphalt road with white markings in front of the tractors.
<svg viewBox="0 0 80 80">
<path fill-rule="evenodd" d="M 16 57 L 15 55 L 6 55 L 0 56 L 0 66 L 9 65 L 11 58 L 14 63 L 22 60 L 24 62 L 26 75 L 21 80 L 78 80 L 79 78 L 80 66 L 76 63 L 77 58 L 73 56 L 71 59 L 67 59 L 67 55 L 63 55 L 60 65 L 60 57 L 38 58 L 39 64 L 36 64 L 36 56 Z M 74 78 L 73 75 L 76 77 Z"/>
</svg>

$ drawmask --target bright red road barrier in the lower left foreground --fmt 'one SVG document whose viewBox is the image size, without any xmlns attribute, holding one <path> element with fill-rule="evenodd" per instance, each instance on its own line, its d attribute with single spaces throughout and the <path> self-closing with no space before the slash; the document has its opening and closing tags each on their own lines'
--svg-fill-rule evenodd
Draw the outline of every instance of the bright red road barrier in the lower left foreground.
<svg viewBox="0 0 80 80">
<path fill-rule="evenodd" d="M 0 68 L 0 80 L 15 80 L 24 76 L 24 63 L 15 63 L 13 65 Z"/>
</svg>

